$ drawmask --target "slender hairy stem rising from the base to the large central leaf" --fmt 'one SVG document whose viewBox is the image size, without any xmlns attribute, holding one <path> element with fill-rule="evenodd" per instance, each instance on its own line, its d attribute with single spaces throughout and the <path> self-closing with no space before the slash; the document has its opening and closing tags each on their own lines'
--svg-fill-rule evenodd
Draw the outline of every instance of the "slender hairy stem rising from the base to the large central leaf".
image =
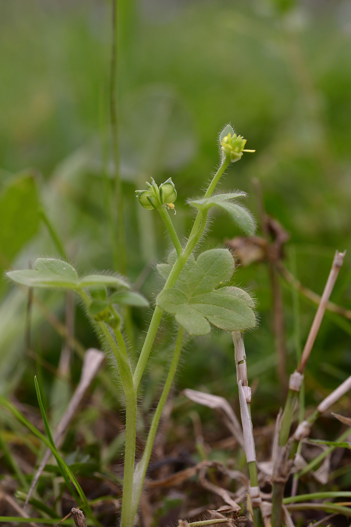
<svg viewBox="0 0 351 527">
<path fill-rule="evenodd" d="M 154 414 L 151 427 L 150 427 L 150 430 L 147 436 L 147 441 L 146 441 L 143 457 L 141 458 L 141 461 L 139 461 L 139 463 L 137 464 L 135 468 L 132 510 L 129 513 L 129 523 L 124 524 L 122 521 L 123 527 L 130 527 L 133 525 L 134 516 L 136 514 L 140 496 L 142 493 L 143 482 L 145 479 L 147 466 L 148 466 L 148 463 L 149 463 L 149 460 L 152 454 L 152 449 L 153 449 L 153 444 L 155 441 L 158 423 L 161 418 L 163 408 L 166 404 L 167 397 L 168 397 L 169 391 L 173 383 L 173 379 L 174 379 L 177 366 L 178 366 L 178 362 L 179 362 L 180 352 L 182 352 L 183 338 L 184 338 L 184 329 L 182 327 L 179 327 L 171 366 L 169 367 L 169 372 L 167 375 L 166 383 L 165 383 L 162 395 L 158 401 L 158 404 L 155 410 L 155 414 Z"/>
</svg>

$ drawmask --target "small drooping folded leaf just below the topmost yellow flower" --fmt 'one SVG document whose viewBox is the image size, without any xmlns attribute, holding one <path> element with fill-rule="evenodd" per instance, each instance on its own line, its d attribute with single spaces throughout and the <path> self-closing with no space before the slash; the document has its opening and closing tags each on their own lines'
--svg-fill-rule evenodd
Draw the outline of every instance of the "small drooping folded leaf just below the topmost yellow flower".
<svg viewBox="0 0 351 527">
<path fill-rule="evenodd" d="M 251 214 L 242 205 L 238 205 L 231 201 L 243 197 L 246 197 L 245 192 L 238 191 L 230 194 L 216 194 L 210 198 L 197 199 L 189 201 L 189 203 L 201 211 L 206 211 L 215 205 L 220 207 L 228 212 L 234 223 L 236 223 L 246 235 L 253 236 L 255 233 L 255 222 Z"/>
</svg>

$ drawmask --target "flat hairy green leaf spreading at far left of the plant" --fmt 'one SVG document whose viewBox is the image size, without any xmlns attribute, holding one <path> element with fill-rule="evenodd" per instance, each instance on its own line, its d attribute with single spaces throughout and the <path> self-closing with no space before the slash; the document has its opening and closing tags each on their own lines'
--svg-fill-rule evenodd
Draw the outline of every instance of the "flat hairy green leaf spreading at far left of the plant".
<svg viewBox="0 0 351 527">
<path fill-rule="evenodd" d="M 55 258 L 37 258 L 34 269 L 9 271 L 8 278 L 28 287 L 55 289 L 95 289 L 102 286 L 115 289 L 129 289 L 128 284 L 119 277 L 109 275 L 88 275 L 79 278 L 71 264 Z"/>
</svg>

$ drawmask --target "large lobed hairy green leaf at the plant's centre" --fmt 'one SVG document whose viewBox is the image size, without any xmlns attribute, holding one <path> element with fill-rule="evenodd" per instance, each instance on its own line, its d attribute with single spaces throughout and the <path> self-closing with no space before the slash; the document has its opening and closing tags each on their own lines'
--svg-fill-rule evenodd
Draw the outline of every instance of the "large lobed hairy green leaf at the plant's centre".
<svg viewBox="0 0 351 527">
<path fill-rule="evenodd" d="M 172 252 L 168 264 L 157 266 L 163 278 L 168 277 L 173 261 Z M 256 325 L 252 298 L 238 287 L 221 287 L 233 272 L 234 260 L 227 249 L 205 251 L 196 261 L 189 259 L 175 287 L 161 291 L 156 303 L 174 314 L 190 335 L 206 335 L 209 323 L 230 331 L 252 328 Z"/>
</svg>

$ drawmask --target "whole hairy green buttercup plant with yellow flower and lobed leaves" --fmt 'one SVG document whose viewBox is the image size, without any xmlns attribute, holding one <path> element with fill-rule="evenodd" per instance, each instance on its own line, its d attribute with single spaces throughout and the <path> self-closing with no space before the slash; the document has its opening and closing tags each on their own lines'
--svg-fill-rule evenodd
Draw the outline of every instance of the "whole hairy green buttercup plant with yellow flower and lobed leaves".
<svg viewBox="0 0 351 527">
<path fill-rule="evenodd" d="M 229 250 L 210 249 L 196 257 L 193 254 L 203 236 L 208 211 L 212 207 L 217 206 L 229 213 L 246 235 L 251 236 L 255 231 L 252 216 L 238 203 L 245 196 L 244 192 L 214 194 L 217 183 L 229 163 L 240 160 L 243 152 L 254 150 L 244 150 L 246 140 L 236 135 L 230 125 L 220 133 L 219 143 L 221 161 L 217 172 L 204 196 L 189 201 L 190 206 L 197 209 L 197 214 L 189 237 L 183 245 L 168 212 L 169 208 L 174 208 L 177 198 L 172 179 L 168 179 L 159 187 L 151 179 L 146 190 L 137 191 L 137 198 L 144 208 L 158 210 L 171 236 L 174 249 L 169 253 L 167 263 L 157 266 L 165 284 L 156 298 L 151 323 L 135 368 L 132 367 L 121 331 L 123 310 L 119 313 L 118 308 L 123 305 L 145 307 L 148 304 L 142 295 L 131 291 L 124 278 L 106 275 L 78 277 L 72 265 L 52 258 L 38 258 L 34 269 L 7 273 L 9 278 L 24 286 L 76 291 L 85 303 L 87 315 L 92 318 L 101 331 L 104 343 L 111 349 L 126 405 L 122 527 L 132 527 L 134 523 L 159 419 L 176 373 L 185 332 L 197 336 L 208 334 L 211 325 L 228 331 L 244 331 L 256 325 L 252 298 L 246 291 L 228 285 L 234 272 L 234 260 Z M 143 455 L 135 464 L 137 395 L 164 311 L 174 315 L 178 327 L 174 354 Z"/>
</svg>

